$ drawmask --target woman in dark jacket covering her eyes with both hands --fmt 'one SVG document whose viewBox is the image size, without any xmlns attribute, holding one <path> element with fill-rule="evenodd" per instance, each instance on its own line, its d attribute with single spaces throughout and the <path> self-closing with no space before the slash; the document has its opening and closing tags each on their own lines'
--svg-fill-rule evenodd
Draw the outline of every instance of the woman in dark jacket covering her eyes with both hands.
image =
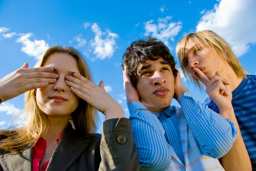
<svg viewBox="0 0 256 171">
<path fill-rule="evenodd" d="M 139 170 L 130 121 L 76 49 L 53 46 L 35 68 L 25 63 L 0 80 L 0 103 L 22 93 L 26 122 L 0 130 L 0 171 Z M 102 136 L 96 110 L 106 119 Z"/>
</svg>

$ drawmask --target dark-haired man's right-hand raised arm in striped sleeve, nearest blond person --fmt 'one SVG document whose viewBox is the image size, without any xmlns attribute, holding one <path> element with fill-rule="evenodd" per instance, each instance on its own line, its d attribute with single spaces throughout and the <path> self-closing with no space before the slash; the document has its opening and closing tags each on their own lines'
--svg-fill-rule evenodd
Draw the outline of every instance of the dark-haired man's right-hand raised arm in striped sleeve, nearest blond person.
<svg viewBox="0 0 256 171">
<path fill-rule="evenodd" d="M 185 90 L 178 74 L 175 80 L 175 98 L 179 97 L 177 100 L 202 153 L 212 158 L 222 157 L 236 139 L 236 127 L 230 120 L 195 100 Z"/>
</svg>

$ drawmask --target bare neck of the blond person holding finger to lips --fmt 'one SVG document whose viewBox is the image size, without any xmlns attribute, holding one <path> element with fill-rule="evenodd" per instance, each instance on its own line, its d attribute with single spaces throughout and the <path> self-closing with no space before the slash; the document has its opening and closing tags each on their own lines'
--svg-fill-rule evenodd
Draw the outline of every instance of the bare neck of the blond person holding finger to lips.
<svg viewBox="0 0 256 171">
<path fill-rule="evenodd" d="M 230 67 L 229 64 L 226 64 L 223 70 L 221 70 L 221 75 L 230 81 L 230 91 L 233 92 L 241 83 L 243 78 L 238 78 L 236 72 Z"/>
</svg>

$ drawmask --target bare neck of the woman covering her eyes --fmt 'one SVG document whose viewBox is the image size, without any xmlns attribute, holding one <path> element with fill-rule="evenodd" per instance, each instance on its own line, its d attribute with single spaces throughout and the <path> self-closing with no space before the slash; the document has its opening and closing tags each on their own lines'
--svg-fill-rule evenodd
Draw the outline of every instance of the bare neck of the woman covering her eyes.
<svg viewBox="0 0 256 171">
<path fill-rule="evenodd" d="M 47 142 L 56 141 L 64 129 L 67 127 L 70 117 L 52 117 L 49 116 L 49 128 L 43 138 Z"/>
</svg>

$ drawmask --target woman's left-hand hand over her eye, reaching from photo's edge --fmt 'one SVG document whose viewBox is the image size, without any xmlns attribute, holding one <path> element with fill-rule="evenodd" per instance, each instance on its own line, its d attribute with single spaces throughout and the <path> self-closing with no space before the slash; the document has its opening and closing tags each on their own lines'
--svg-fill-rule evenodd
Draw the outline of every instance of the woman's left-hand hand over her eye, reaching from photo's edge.
<svg viewBox="0 0 256 171">
<path fill-rule="evenodd" d="M 47 86 L 49 83 L 55 83 L 58 74 L 51 73 L 52 67 L 28 68 L 25 63 L 18 70 L 6 75 L 0 79 L 0 99 L 2 101 L 10 100 L 26 91 Z"/>
</svg>

